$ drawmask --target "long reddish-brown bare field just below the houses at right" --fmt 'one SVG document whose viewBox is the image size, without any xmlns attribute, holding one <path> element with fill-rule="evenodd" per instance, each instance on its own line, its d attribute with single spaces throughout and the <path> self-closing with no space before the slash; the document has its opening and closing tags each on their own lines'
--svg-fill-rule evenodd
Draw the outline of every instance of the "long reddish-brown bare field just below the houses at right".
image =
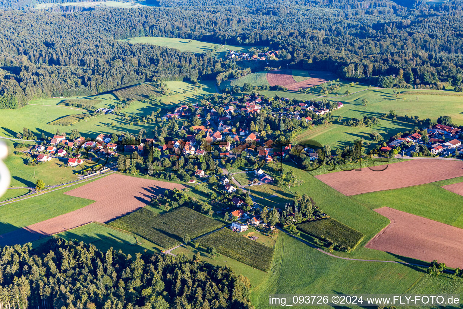
<svg viewBox="0 0 463 309">
<path fill-rule="evenodd" d="M 315 178 L 344 195 L 356 195 L 463 176 L 463 162 L 460 160 L 415 159 L 372 169 L 377 171 L 363 168 L 318 175 Z"/>
</svg>

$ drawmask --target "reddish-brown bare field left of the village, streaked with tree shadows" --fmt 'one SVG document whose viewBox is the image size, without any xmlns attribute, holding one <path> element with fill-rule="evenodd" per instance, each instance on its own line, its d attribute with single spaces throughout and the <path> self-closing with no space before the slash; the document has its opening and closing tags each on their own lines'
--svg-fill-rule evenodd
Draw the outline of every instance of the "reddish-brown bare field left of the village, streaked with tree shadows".
<svg viewBox="0 0 463 309">
<path fill-rule="evenodd" d="M 107 222 L 150 203 L 152 197 L 165 189 L 182 189 L 181 184 L 113 174 L 66 192 L 67 195 L 95 202 L 28 227 L 0 235 L 0 246 L 23 244 L 60 233 L 83 224 Z M 55 201 L 59 203 L 60 201 Z"/>
</svg>

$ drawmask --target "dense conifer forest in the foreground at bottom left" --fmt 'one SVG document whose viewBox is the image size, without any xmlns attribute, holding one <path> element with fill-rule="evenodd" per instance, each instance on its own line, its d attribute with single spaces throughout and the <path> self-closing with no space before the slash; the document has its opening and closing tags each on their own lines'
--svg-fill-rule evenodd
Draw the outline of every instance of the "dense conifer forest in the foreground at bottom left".
<svg viewBox="0 0 463 309">
<path fill-rule="evenodd" d="M 0 308 L 253 309 L 250 281 L 200 256 L 125 255 L 53 238 L 0 248 Z"/>
</svg>

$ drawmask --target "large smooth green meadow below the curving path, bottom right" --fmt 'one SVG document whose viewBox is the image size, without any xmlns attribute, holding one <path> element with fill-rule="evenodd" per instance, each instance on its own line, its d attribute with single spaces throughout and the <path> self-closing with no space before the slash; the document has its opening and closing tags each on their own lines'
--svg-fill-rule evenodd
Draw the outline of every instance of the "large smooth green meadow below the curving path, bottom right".
<svg viewBox="0 0 463 309">
<path fill-rule="evenodd" d="M 450 274 L 436 277 L 411 265 L 337 259 L 284 233 L 276 240 L 272 268 L 275 271 L 252 290 L 257 309 L 268 308 L 269 294 L 274 293 L 463 292 L 463 280 Z"/>
</svg>

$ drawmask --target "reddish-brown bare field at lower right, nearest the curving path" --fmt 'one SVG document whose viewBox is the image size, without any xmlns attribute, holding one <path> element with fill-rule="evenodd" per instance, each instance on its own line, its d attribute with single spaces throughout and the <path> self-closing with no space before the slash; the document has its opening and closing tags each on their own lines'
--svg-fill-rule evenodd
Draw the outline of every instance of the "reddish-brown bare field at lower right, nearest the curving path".
<svg viewBox="0 0 463 309">
<path fill-rule="evenodd" d="M 367 248 L 427 262 L 437 259 L 453 268 L 463 266 L 463 229 L 393 208 L 375 211 L 391 223 L 368 242 Z"/>
</svg>

